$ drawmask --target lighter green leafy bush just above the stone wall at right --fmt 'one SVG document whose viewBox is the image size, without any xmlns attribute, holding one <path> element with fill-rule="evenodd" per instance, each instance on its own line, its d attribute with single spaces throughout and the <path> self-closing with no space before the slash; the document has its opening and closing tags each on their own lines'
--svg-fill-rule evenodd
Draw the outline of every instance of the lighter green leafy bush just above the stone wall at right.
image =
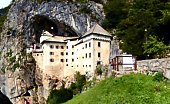
<svg viewBox="0 0 170 104">
<path fill-rule="evenodd" d="M 158 41 L 155 36 L 149 36 L 148 41 L 144 43 L 144 54 L 153 56 L 154 58 L 161 58 L 164 56 L 168 46 L 162 41 Z"/>
</svg>

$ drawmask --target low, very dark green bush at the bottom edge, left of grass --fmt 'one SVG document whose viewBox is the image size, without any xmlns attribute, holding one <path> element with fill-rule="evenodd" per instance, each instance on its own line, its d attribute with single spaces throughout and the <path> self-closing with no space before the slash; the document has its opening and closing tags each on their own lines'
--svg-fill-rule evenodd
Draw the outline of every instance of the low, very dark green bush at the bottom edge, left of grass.
<svg viewBox="0 0 170 104">
<path fill-rule="evenodd" d="M 52 90 L 47 99 L 47 104 L 61 104 L 72 99 L 71 90 L 62 87 L 60 90 Z"/>
</svg>

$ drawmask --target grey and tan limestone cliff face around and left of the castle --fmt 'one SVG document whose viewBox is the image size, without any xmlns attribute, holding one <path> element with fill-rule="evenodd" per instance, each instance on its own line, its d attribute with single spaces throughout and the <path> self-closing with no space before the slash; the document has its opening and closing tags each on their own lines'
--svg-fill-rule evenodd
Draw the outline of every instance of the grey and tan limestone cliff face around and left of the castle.
<svg viewBox="0 0 170 104">
<path fill-rule="evenodd" d="M 93 1 L 51 0 L 39 4 L 36 0 L 15 0 L 0 37 L 1 91 L 13 103 L 27 90 L 36 103 L 43 101 L 42 75 L 34 59 L 25 53 L 26 47 L 38 43 L 43 30 L 55 35 L 67 32 L 81 36 L 95 22 L 101 23 L 103 19 L 102 5 Z M 52 88 L 51 83 L 57 79 L 47 76 L 43 80 Z"/>
</svg>

